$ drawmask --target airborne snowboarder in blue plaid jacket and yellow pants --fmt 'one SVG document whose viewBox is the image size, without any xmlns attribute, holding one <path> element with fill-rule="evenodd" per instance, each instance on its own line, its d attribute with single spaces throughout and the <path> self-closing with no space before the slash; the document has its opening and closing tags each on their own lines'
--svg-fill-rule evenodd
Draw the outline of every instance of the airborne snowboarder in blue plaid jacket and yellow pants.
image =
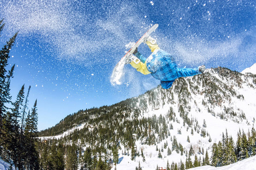
<svg viewBox="0 0 256 170">
<path fill-rule="evenodd" d="M 151 74 L 155 79 L 160 80 L 161 86 L 165 89 L 170 88 L 177 78 L 193 76 L 205 71 L 204 65 L 194 69 L 180 69 L 171 54 L 160 49 L 155 39 L 148 36 L 144 42 L 151 49 L 152 54 L 145 58 L 136 49 L 133 54 L 140 59 L 140 62 L 136 64 L 131 58 L 127 58 L 126 64 L 130 63 L 131 66 L 144 75 Z"/>
</svg>

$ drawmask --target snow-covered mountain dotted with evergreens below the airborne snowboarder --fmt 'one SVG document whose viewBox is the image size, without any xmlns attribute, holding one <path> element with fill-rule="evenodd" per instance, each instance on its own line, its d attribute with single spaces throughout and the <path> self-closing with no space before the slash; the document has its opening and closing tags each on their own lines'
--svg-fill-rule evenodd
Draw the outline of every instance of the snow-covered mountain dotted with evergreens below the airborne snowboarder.
<svg viewBox="0 0 256 170">
<path fill-rule="evenodd" d="M 255 75 L 221 67 L 206 72 L 179 78 L 169 90 L 158 87 L 120 104 L 99 108 L 97 114 L 92 114 L 96 112 L 94 110 L 74 114 L 70 118 L 72 121 L 84 115 L 88 117 L 64 133 L 42 139 L 64 139 L 73 134 L 91 136 L 94 133 L 97 135 L 94 139 L 99 141 L 85 141 L 84 149 L 108 146 L 108 139 L 100 141 L 104 133 L 101 134 L 99 129 L 103 127 L 103 130 L 109 128 L 108 133 L 113 130 L 110 134 L 119 141 L 117 169 L 135 169 L 139 164 L 143 169 L 156 169 L 166 167 L 167 162 L 184 163 L 191 148 L 195 152 L 193 155 L 202 161 L 206 151 L 209 157 L 212 155 L 213 143 L 221 141 L 222 134 L 228 133 L 236 141 L 238 131 L 247 133 L 254 127 L 256 117 Z M 146 125 L 141 123 L 143 121 L 147 121 Z M 64 123 L 65 120 L 56 127 Z M 127 135 L 127 131 L 131 131 L 133 139 L 128 138 L 134 141 L 130 146 L 122 136 Z M 178 150 L 172 150 L 174 141 L 179 145 Z M 132 154 L 127 154 L 134 148 L 137 153 L 143 152 L 144 158 L 135 156 L 132 159 Z M 171 154 L 168 148 L 171 148 Z M 162 158 L 159 158 L 159 152 Z"/>
</svg>

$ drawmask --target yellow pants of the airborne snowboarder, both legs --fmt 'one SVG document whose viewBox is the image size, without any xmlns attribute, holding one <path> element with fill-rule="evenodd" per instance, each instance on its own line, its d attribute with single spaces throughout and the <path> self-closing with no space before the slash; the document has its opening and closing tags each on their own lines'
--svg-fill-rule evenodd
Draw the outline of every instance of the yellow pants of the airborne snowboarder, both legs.
<svg viewBox="0 0 256 170">
<path fill-rule="evenodd" d="M 147 46 L 151 49 L 151 52 L 153 53 L 155 50 L 159 49 L 158 44 L 155 42 L 155 44 L 152 44 L 150 41 L 146 41 Z M 136 64 L 135 62 L 130 63 L 131 66 L 133 66 L 137 71 L 141 72 L 142 74 L 150 74 L 151 72 L 147 70 L 146 62 L 139 62 Z"/>
</svg>

